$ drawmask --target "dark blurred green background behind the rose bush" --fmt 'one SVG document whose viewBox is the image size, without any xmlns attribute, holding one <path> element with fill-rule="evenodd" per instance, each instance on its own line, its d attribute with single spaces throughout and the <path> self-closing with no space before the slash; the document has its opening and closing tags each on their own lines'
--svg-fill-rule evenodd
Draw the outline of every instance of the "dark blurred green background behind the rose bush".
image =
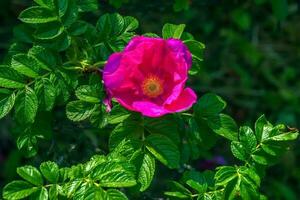
<svg viewBox="0 0 300 200">
<path fill-rule="evenodd" d="M 0 60 L 11 44 L 18 14 L 31 4 L 31 0 L 0 1 Z M 206 45 L 192 87 L 200 95 L 222 96 L 227 113 L 239 125 L 252 126 L 265 113 L 273 123 L 300 127 L 299 0 L 101 0 L 99 4 L 95 15 L 119 12 L 136 17 L 140 33 L 160 34 L 167 22 L 186 24 L 186 31 Z M 16 150 L 12 123 L 9 117 L 0 121 L 0 188 L 15 178 L 15 168 L 24 159 Z M 49 143 L 45 146 L 49 148 Z M 299 158 L 300 149 L 294 147 L 268 170 L 262 184 L 266 196 L 300 199 Z"/>
</svg>

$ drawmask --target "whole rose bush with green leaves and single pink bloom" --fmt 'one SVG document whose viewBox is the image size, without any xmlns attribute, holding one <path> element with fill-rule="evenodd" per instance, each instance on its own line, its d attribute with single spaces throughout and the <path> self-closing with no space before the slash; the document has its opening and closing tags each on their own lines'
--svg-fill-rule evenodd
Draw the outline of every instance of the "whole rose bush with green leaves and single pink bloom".
<svg viewBox="0 0 300 200">
<path fill-rule="evenodd" d="M 133 17 L 84 21 L 94 0 L 34 2 L 0 67 L 0 118 L 24 160 L 4 199 L 266 198 L 264 173 L 298 130 L 264 115 L 238 127 L 220 96 L 197 99 L 186 82 L 204 45 L 185 25 L 137 36 Z"/>
</svg>

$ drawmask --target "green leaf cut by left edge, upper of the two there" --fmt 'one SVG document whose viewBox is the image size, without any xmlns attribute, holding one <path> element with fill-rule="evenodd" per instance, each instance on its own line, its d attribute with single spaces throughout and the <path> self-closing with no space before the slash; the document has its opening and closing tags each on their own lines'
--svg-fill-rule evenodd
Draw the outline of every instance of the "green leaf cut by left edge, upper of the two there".
<svg viewBox="0 0 300 200">
<path fill-rule="evenodd" d="M 24 77 L 14 69 L 7 66 L 0 66 L 0 87 L 23 88 Z"/>
</svg>

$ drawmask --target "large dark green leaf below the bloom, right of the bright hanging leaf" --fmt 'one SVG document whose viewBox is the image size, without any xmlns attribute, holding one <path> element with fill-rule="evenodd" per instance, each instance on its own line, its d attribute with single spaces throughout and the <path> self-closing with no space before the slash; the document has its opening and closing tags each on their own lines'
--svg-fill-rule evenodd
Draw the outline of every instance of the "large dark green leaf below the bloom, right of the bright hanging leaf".
<svg viewBox="0 0 300 200">
<path fill-rule="evenodd" d="M 164 165 L 171 169 L 179 167 L 178 147 L 168 137 L 151 134 L 146 138 L 146 147 Z"/>
</svg>

